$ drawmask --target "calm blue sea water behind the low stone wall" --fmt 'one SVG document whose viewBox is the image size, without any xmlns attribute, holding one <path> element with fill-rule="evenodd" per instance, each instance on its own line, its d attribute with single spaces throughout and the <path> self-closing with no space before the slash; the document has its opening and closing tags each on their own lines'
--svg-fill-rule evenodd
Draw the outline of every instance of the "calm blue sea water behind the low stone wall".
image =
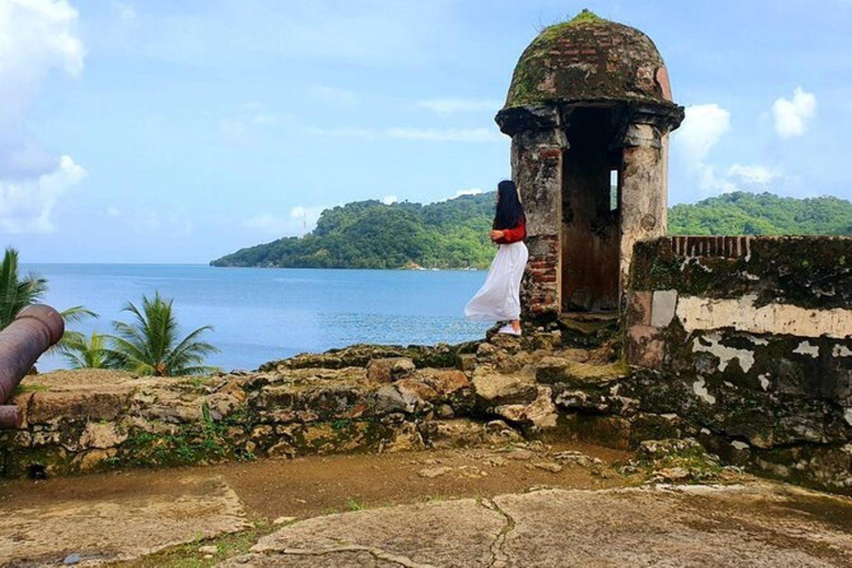
<svg viewBox="0 0 852 568">
<path fill-rule="evenodd" d="M 48 280 L 45 303 L 83 305 L 100 320 L 72 324 L 91 333 L 129 322 L 128 301 L 174 298 L 182 332 L 212 325 L 205 339 L 221 349 L 209 363 L 253 369 L 303 352 L 354 343 L 456 343 L 481 337 L 487 325 L 465 321 L 463 310 L 485 272 L 214 268 L 205 265 L 29 264 Z M 59 357 L 41 371 L 64 366 Z"/>
</svg>

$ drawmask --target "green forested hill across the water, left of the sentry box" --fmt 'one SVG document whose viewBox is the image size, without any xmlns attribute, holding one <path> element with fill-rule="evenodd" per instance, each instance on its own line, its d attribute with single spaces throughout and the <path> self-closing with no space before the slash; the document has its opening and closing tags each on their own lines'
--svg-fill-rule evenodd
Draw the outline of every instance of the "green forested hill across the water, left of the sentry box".
<svg viewBox="0 0 852 568">
<path fill-rule="evenodd" d="M 304 237 L 223 256 L 213 266 L 296 268 L 487 267 L 494 193 L 422 205 L 362 201 L 323 212 Z"/>
</svg>

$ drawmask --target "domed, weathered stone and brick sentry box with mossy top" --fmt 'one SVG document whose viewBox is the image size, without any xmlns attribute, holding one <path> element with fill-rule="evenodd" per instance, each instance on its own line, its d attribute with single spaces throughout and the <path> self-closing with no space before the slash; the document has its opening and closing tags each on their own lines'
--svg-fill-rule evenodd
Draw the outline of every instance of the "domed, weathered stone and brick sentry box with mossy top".
<svg viewBox="0 0 852 568">
<path fill-rule="evenodd" d="M 682 119 L 639 30 L 584 11 L 524 51 L 496 120 L 527 212 L 527 317 L 619 308 L 633 244 L 666 234 L 668 133 Z"/>
</svg>

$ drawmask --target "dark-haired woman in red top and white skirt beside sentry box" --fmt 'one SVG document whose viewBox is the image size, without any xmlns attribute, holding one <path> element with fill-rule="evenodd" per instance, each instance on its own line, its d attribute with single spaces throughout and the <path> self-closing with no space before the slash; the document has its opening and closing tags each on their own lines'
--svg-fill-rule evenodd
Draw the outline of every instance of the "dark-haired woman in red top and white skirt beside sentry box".
<svg viewBox="0 0 852 568">
<path fill-rule="evenodd" d="M 497 184 L 497 213 L 491 241 L 499 245 L 488 277 L 465 307 L 468 320 L 509 322 L 498 333 L 520 335 L 520 278 L 529 253 L 524 239 L 527 220 L 514 182 Z"/>
</svg>

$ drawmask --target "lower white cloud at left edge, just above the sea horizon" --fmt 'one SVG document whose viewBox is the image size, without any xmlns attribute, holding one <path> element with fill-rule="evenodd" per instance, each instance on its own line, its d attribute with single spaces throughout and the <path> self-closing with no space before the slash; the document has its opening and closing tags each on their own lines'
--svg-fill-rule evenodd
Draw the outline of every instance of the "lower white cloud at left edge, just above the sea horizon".
<svg viewBox="0 0 852 568">
<path fill-rule="evenodd" d="M 57 201 L 80 183 L 85 170 L 63 155 L 52 172 L 20 181 L 0 180 L 0 229 L 7 233 L 50 233 Z"/>
</svg>

